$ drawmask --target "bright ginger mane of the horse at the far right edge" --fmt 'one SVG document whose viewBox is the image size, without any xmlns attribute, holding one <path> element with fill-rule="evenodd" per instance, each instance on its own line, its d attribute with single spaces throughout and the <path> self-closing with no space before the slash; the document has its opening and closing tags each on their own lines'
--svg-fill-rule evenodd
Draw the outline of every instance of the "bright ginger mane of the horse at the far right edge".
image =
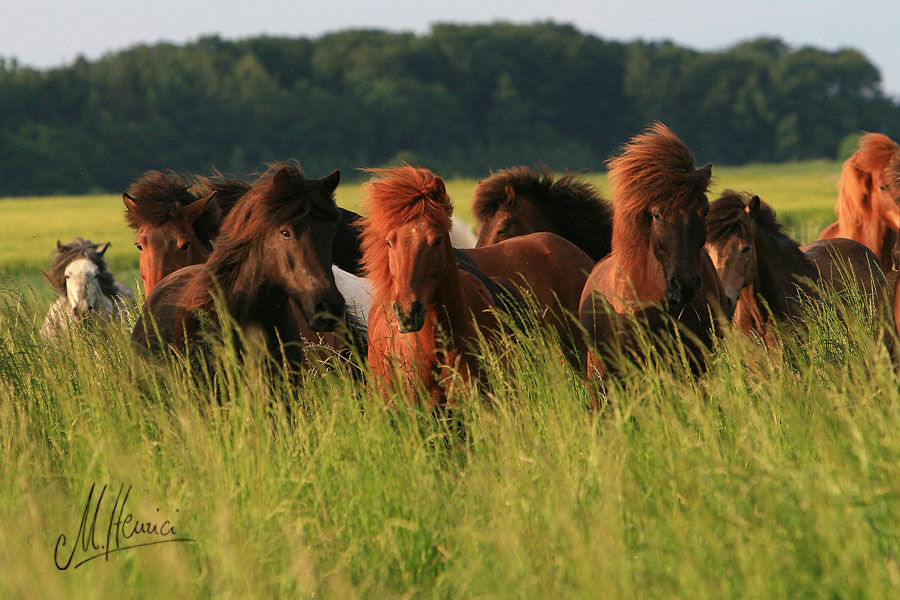
<svg viewBox="0 0 900 600">
<path fill-rule="evenodd" d="M 900 178 L 900 146 L 883 133 L 865 133 L 859 139 L 859 148 L 841 167 L 838 180 L 838 200 L 835 212 L 842 229 L 855 230 L 865 227 L 873 215 L 896 211 L 893 198 L 885 194 L 873 194 L 873 175 L 896 169 Z M 883 206 L 874 206 L 878 202 Z"/>
</svg>

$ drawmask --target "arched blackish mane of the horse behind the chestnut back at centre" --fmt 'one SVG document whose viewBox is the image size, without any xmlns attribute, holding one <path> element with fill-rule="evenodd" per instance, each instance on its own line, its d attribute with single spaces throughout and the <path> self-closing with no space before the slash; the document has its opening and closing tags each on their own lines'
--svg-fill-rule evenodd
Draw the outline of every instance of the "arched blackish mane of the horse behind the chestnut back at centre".
<svg viewBox="0 0 900 600">
<path fill-rule="evenodd" d="M 609 254 L 612 207 L 593 185 L 573 174 L 554 179 L 546 166 L 541 175 L 526 166 L 492 173 L 475 186 L 472 211 L 478 221 L 487 221 L 520 196 L 534 200 L 563 237 L 595 261 Z"/>
</svg>

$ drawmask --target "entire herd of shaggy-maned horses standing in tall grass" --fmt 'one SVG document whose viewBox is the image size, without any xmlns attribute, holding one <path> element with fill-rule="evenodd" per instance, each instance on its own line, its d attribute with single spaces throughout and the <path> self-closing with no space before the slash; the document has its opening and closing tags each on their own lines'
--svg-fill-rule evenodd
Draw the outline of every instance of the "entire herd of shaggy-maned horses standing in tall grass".
<svg viewBox="0 0 900 600">
<path fill-rule="evenodd" d="M 698 167 L 660 123 L 608 167 L 611 202 L 571 175 L 493 173 L 475 188 L 474 248 L 454 247 L 453 204 L 427 169 L 370 169 L 365 217 L 336 205 L 338 171 L 310 179 L 276 163 L 253 183 L 150 171 L 123 194 L 146 297 L 132 340 L 179 351 L 228 322 L 245 345 L 295 366 L 315 344 L 356 347 L 371 385 L 410 401 L 424 390 L 440 406 L 479 377 L 479 340 L 526 307 L 558 334 L 561 357 L 601 379 L 621 356 L 646 352 L 648 333 L 681 339 L 697 373 L 729 322 L 775 344 L 775 327 L 802 322 L 802 298 L 820 286 L 854 286 L 885 327 L 900 324 L 900 294 L 889 289 L 900 263 L 900 147 L 887 136 L 862 136 L 842 169 L 838 220 L 805 246 L 757 196 L 727 190 L 710 203 L 712 166 Z M 133 302 L 105 249 L 80 238 L 58 245 L 48 277 L 61 297 L 42 333 L 64 315 Z"/>
</svg>

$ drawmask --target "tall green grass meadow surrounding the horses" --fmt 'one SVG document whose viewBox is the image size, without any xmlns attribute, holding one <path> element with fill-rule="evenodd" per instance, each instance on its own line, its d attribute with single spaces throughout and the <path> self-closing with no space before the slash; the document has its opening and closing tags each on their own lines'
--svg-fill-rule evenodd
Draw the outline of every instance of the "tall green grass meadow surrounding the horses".
<svg viewBox="0 0 900 600">
<path fill-rule="evenodd" d="M 805 241 L 832 220 L 838 174 L 722 168 L 711 197 L 753 191 Z M 473 185 L 448 186 L 464 218 Z M 358 186 L 338 190 L 358 204 Z M 486 342 L 487 385 L 436 415 L 340 362 L 300 385 L 227 344 L 214 375 L 147 362 L 129 322 L 48 344 L 39 272 L 56 238 L 111 240 L 136 279 L 121 200 L 0 214 L 2 598 L 898 595 L 900 389 L 860 303 L 813 304 L 778 350 L 726 332 L 699 380 L 662 354 L 624 364 L 600 411 L 532 322 Z M 120 486 L 136 519 L 192 541 L 74 568 L 102 552 L 76 534 L 104 485 L 98 548 Z"/>
</svg>

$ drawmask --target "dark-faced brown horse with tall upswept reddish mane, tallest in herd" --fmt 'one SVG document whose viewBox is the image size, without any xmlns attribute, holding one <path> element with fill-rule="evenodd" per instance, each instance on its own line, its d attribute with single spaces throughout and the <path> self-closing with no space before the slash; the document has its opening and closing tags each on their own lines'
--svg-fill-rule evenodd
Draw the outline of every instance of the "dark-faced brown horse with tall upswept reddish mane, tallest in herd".
<svg viewBox="0 0 900 600">
<path fill-rule="evenodd" d="M 597 263 L 581 296 L 581 323 L 596 352 L 588 375 L 602 375 L 619 351 L 639 353 L 641 333 L 677 327 L 695 372 L 713 335 L 721 335 L 724 294 L 703 249 L 706 190 L 687 146 L 656 123 L 608 162 L 613 181 L 612 252 Z"/>
</svg>

